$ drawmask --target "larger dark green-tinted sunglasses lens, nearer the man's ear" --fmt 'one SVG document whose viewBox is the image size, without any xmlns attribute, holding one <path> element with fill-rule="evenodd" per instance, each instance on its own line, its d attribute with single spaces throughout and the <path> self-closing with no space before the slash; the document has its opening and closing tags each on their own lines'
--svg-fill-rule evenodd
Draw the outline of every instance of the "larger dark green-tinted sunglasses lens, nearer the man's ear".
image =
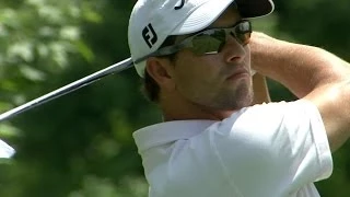
<svg viewBox="0 0 350 197">
<path fill-rule="evenodd" d="M 192 39 L 191 50 L 196 55 L 218 53 L 225 42 L 225 32 L 221 30 L 208 31 Z"/>
</svg>

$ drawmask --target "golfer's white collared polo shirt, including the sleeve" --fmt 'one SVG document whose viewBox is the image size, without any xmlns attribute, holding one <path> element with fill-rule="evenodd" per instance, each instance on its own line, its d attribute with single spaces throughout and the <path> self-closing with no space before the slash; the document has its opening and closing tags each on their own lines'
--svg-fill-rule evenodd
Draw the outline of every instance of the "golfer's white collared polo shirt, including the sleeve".
<svg viewBox="0 0 350 197">
<path fill-rule="evenodd" d="M 307 101 L 255 105 L 222 121 L 178 120 L 133 134 L 150 197 L 314 197 L 332 159 Z"/>
</svg>

